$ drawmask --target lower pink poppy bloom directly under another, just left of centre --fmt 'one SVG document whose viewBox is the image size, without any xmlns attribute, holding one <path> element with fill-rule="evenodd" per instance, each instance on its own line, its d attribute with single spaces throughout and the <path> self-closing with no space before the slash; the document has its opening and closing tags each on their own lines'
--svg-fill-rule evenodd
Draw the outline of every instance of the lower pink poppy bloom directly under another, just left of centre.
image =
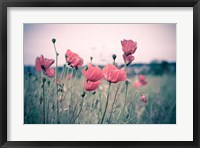
<svg viewBox="0 0 200 148">
<path fill-rule="evenodd" d="M 101 81 L 96 81 L 96 82 L 92 82 L 92 81 L 87 81 L 84 80 L 83 81 L 83 87 L 86 91 L 94 91 L 98 88 L 98 86 L 101 84 Z"/>
</svg>

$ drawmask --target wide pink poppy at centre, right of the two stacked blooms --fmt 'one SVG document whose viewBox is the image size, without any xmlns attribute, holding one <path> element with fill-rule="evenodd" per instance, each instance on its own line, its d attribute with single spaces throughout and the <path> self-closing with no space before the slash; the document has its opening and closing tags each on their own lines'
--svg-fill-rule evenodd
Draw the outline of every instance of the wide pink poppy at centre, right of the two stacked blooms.
<svg viewBox="0 0 200 148">
<path fill-rule="evenodd" d="M 126 72 L 120 70 L 114 65 L 108 64 L 103 68 L 104 78 L 111 83 L 117 83 L 119 81 L 125 81 L 127 79 Z"/>
</svg>

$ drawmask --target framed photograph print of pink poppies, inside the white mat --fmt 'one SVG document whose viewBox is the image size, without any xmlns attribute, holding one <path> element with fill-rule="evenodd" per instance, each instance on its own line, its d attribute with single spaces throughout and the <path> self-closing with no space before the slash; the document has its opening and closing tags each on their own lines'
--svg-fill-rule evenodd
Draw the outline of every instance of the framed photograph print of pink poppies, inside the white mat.
<svg viewBox="0 0 200 148">
<path fill-rule="evenodd" d="M 176 124 L 176 24 L 23 26 L 24 124 Z"/>
</svg>

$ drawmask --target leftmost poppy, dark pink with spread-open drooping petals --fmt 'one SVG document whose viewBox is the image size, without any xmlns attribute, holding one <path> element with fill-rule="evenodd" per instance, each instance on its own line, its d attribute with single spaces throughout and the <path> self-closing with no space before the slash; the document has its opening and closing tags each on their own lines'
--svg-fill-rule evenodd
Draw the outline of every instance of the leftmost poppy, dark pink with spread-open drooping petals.
<svg viewBox="0 0 200 148">
<path fill-rule="evenodd" d="M 43 70 L 47 76 L 53 77 L 55 75 L 55 70 L 54 68 L 50 67 L 53 63 L 54 63 L 53 59 L 47 59 L 44 58 L 43 55 L 41 55 L 40 57 L 37 57 L 35 60 L 35 68 L 37 71 L 41 72 Z"/>
</svg>

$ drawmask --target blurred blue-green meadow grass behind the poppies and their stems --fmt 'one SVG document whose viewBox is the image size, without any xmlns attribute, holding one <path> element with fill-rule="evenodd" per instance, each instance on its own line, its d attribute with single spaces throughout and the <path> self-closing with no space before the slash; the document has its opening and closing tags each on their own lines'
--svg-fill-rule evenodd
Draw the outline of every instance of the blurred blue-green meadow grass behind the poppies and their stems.
<svg viewBox="0 0 200 148">
<path fill-rule="evenodd" d="M 70 73 L 71 71 L 68 71 Z M 75 72 L 74 72 L 75 73 Z M 73 74 L 74 74 L 73 73 Z M 60 124 L 100 124 L 105 109 L 109 83 L 101 81 L 95 92 L 83 93 L 83 77 L 80 71 L 76 79 L 67 79 L 67 72 L 59 73 L 58 85 Z M 57 124 L 55 79 L 47 78 L 44 83 L 46 124 Z M 176 124 L 176 76 L 146 75 L 147 85 L 136 89 L 133 87 L 135 76 L 129 77 L 128 95 L 125 108 L 125 82 L 111 84 L 108 108 L 104 124 Z M 39 73 L 24 76 L 24 123 L 43 123 L 43 86 Z M 117 94 L 116 94 L 117 92 Z M 144 103 L 140 95 L 148 101 Z M 115 98 L 115 103 L 113 104 Z M 111 114 L 112 112 L 112 114 Z M 120 114 L 121 113 L 121 114 Z M 110 115 L 111 114 L 111 115 Z"/>
</svg>

